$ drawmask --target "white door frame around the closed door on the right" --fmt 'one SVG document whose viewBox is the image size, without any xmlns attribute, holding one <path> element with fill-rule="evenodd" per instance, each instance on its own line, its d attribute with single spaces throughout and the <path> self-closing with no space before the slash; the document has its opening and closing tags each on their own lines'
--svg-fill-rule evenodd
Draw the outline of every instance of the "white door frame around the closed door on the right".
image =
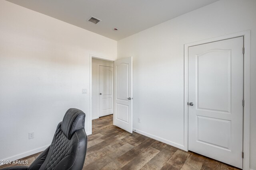
<svg viewBox="0 0 256 170">
<path fill-rule="evenodd" d="M 184 150 L 188 151 L 188 47 L 244 36 L 244 127 L 243 127 L 243 169 L 250 168 L 250 30 L 184 45 Z M 241 153 L 242 157 L 242 153 Z"/>
</svg>

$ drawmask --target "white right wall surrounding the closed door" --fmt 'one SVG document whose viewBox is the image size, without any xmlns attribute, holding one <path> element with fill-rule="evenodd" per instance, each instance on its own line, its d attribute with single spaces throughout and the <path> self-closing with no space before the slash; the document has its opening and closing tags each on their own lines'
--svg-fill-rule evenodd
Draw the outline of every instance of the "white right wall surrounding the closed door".
<svg viewBox="0 0 256 170">
<path fill-rule="evenodd" d="M 250 168 L 256 169 L 256 0 L 220 0 L 118 41 L 118 59 L 133 56 L 134 129 L 182 148 L 184 44 L 248 29 Z"/>
</svg>

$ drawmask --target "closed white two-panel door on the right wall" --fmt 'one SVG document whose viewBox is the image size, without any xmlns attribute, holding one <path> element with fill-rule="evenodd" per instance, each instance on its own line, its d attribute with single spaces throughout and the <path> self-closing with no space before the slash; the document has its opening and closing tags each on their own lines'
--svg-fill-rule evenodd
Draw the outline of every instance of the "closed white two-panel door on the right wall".
<svg viewBox="0 0 256 170">
<path fill-rule="evenodd" d="M 188 48 L 188 150 L 242 168 L 243 37 Z"/>
</svg>

